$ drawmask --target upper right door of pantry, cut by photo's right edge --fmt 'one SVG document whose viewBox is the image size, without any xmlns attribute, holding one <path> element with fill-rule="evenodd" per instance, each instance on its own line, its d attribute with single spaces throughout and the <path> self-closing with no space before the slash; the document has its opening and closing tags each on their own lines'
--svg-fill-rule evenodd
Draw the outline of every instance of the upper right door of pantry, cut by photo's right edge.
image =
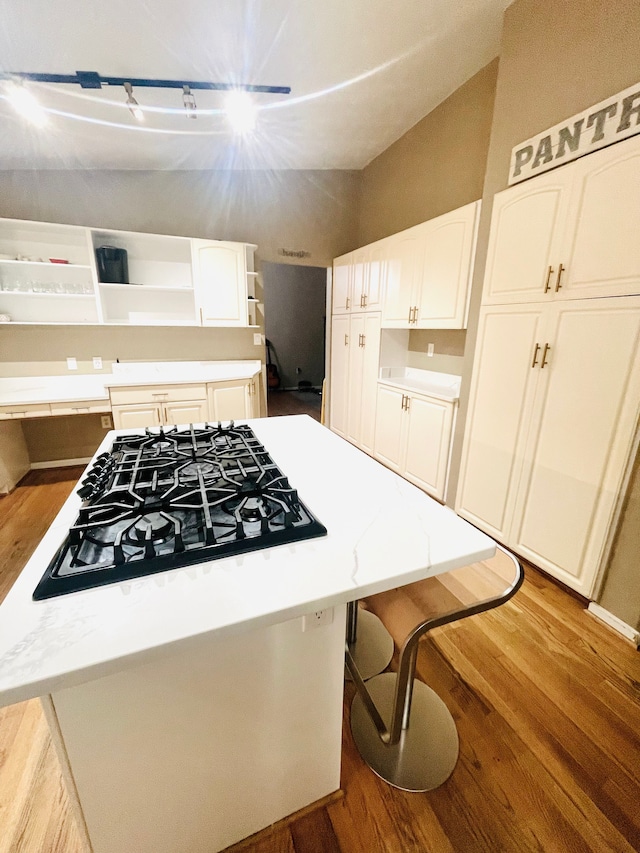
<svg viewBox="0 0 640 853">
<path fill-rule="evenodd" d="M 640 293 L 640 137 L 574 165 L 562 299 Z"/>
</svg>

